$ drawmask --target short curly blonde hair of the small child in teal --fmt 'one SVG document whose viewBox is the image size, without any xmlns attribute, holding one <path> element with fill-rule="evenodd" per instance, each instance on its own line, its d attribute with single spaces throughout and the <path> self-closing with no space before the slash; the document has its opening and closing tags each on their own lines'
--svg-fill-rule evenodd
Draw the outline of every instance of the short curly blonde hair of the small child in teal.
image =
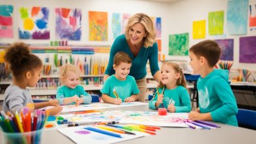
<svg viewBox="0 0 256 144">
<path fill-rule="evenodd" d="M 72 71 L 74 73 L 78 73 L 80 75 L 80 71 L 79 68 L 75 65 L 72 65 L 70 63 L 66 63 L 65 65 L 62 66 L 61 70 L 60 70 L 60 82 L 64 82 L 64 80 L 67 77 L 67 73 L 69 71 Z"/>
</svg>

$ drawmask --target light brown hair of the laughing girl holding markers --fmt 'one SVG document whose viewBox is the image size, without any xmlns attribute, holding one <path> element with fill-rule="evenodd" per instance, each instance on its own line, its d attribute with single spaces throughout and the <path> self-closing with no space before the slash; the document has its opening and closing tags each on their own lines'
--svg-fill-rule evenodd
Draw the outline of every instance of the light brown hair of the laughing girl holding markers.
<svg viewBox="0 0 256 144">
<path fill-rule="evenodd" d="M 177 79 L 177 86 L 184 86 L 184 88 L 186 88 L 186 79 L 184 77 L 183 71 L 180 68 L 180 66 L 177 63 L 174 62 L 163 62 L 163 64 L 161 65 L 163 67 L 163 65 L 169 65 L 170 67 L 172 67 L 175 71 L 175 73 L 180 73 L 180 77 L 179 79 Z M 165 84 L 163 84 L 162 82 L 160 82 L 159 87 L 164 87 Z M 186 88 L 186 90 L 188 90 L 188 88 Z"/>
</svg>

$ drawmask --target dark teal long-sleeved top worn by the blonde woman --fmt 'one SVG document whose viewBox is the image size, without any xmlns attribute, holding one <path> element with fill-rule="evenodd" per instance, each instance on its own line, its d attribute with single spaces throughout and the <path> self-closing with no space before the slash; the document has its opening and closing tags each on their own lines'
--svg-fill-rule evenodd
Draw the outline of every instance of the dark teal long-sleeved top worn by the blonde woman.
<svg viewBox="0 0 256 144">
<path fill-rule="evenodd" d="M 110 59 L 108 62 L 108 67 L 105 71 L 106 75 L 113 75 L 115 71 L 113 69 L 114 56 L 117 52 L 125 52 L 131 57 L 132 65 L 129 75 L 133 76 L 135 79 L 142 79 L 146 77 L 146 63 L 149 60 L 150 71 L 152 76 L 159 71 L 158 67 L 158 45 L 154 43 L 153 46 L 142 48 L 139 51 L 139 54 L 135 57 L 131 52 L 128 43 L 126 41 L 125 35 L 120 35 L 116 38 L 110 50 Z"/>
</svg>

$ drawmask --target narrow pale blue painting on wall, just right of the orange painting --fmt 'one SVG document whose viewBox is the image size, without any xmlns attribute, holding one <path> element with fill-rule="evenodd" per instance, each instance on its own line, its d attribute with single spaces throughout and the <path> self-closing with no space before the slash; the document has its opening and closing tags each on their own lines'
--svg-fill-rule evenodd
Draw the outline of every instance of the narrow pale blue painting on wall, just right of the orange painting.
<svg viewBox="0 0 256 144">
<path fill-rule="evenodd" d="M 112 33 L 114 39 L 121 35 L 121 14 L 119 13 L 112 14 Z"/>
</svg>

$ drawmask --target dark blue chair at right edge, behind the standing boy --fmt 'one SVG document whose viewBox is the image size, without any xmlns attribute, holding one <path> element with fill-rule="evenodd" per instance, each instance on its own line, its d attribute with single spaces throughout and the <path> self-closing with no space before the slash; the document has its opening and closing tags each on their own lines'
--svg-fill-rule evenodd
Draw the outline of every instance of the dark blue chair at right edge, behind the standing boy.
<svg viewBox="0 0 256 144">
<path fill-rule="evenodd" d="M 238 119 L 238 126 L 256 130 L 256 111 L 238 109 L 236 118 Z"/>
</svg>

